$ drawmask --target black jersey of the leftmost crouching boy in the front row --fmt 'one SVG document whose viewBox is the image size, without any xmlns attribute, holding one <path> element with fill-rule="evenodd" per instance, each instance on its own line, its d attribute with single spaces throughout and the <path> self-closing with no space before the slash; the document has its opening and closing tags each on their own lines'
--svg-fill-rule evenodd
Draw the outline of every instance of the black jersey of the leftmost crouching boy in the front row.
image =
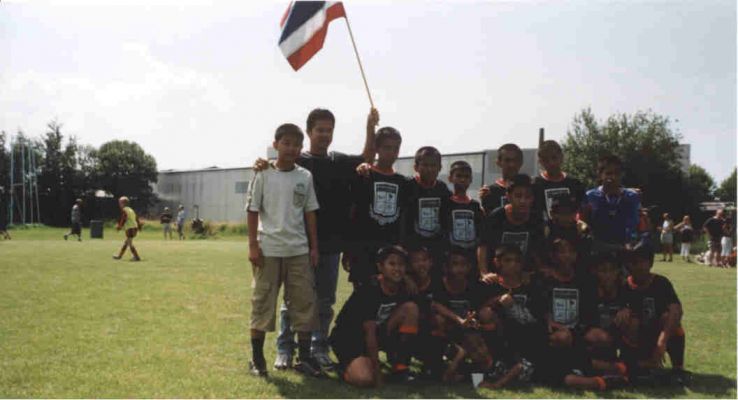
<svg viewBox="0 0 738 400">
<path fill-rule="evenodd" d="M 349 296 L 336 317 L 332 336 L 342 338 L 364 337 L 364 322 L 386 323 L 392 312 L 411 297 L 404 291 L 388 295 L 375 279 L 360 286 Z"/>
</svg>

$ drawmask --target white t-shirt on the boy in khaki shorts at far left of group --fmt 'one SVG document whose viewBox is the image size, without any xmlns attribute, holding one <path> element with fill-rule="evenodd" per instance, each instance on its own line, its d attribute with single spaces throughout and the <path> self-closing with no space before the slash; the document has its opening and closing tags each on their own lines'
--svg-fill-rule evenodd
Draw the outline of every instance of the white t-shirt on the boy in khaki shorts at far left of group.
<svg viewBox="0 0 738 400">
<path fill-rule="evenodd" d="M 258 172 L 249 186 L 246 210 L 259 213 L 259 244 L 266 257 L 294 257 L 309 252 L 305 213 L 319 208 L 310 171 L 274 166 Z"/>
</svg>

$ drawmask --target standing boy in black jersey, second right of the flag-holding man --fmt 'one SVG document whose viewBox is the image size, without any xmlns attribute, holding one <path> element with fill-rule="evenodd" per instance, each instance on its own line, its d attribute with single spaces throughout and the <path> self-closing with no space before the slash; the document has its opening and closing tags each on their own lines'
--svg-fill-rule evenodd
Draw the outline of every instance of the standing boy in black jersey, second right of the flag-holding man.
<svg viewBox="0 0 738 400">
<path fill-rule="evenodd" d="M 441 276 L 446 254 L 446 237 L 451 192 L 438 180 L 441 171 L 441 153 L 435 147 L 421 147 L 415 152 L 415 177 L 408 181 L 407 217 L 403 238 L 409 246 L 423 246 L 430 250 L 433 260 L 432 275 Z"/>
</svg>

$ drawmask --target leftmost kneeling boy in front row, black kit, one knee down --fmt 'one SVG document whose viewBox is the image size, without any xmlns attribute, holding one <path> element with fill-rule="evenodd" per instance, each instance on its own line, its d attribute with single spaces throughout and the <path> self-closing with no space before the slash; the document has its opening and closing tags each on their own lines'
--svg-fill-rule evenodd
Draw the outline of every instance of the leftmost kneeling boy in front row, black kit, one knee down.
<svg viewBox="0 0 738 400">
<path fill-rule="evenodd" d="M 392 363 L 393 378 L 409 381 L 410 354 L 418 333 L 418 306 L 405 286 L 407 253 L 383 247 L 377 253 L 379 275 L 357 288 L 336 318 L 330 342 L 339 372 L 349 384 L 381 384 L 379 350 Z"/>
</svg>

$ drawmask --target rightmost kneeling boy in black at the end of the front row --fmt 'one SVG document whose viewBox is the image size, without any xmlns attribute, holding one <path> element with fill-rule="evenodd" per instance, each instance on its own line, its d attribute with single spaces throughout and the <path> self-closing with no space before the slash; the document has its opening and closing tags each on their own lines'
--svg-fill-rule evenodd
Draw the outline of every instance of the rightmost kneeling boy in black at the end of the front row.
<svg viewBox="0 0 738 400">
<path fill-rule="evenodd" d="M 639 243 L 626 252 L 630 275 L 625 297 L 637 325 L 638 339 L 624 350 L 633 374 L 637 373 L 633 370 L 646 372 L 661 367 L 665 353 L 669 353 L 673 377 L 683 384 L 689 374 L 684 371 L 682 304 L 669 279 L 651 273 L 653 261 L 654 250 L 648 243 Z"/>
</svg>

